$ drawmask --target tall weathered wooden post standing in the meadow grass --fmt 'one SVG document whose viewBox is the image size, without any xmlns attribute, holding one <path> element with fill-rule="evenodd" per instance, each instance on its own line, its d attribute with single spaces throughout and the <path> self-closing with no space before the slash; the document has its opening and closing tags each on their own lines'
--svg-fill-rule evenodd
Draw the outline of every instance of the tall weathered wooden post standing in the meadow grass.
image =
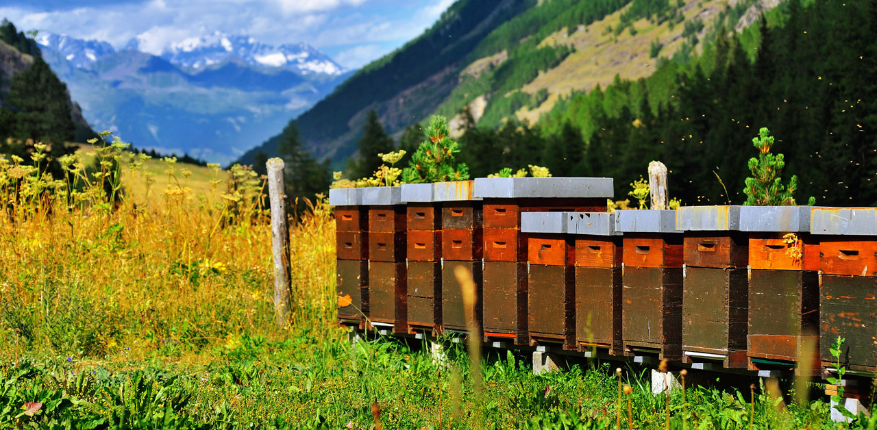
<svg viewBox="0 0 877 430">
<path fill-rule="evenodd" d="M 289 290 L 289 225 L 286 219 L 286 188 L 283 160 L 274 158 L 265 163 L 268 172 L 268 199 L 271 201 L 271 243 L 275 263 L 275 318 L 283 327 L 292 308 Z"/>
</svg>

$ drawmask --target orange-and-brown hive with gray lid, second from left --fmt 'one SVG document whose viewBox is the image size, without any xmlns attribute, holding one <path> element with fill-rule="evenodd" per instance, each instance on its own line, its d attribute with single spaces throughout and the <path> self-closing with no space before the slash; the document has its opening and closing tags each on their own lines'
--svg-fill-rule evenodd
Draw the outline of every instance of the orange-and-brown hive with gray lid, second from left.
<svg viewBox="0 0 877 430">
<path fill-rule="evenodd" d="M 362 188 L 368 206 L 368 319 L 407 332 L 406 210 L 400 187 Z"/>
</svg>

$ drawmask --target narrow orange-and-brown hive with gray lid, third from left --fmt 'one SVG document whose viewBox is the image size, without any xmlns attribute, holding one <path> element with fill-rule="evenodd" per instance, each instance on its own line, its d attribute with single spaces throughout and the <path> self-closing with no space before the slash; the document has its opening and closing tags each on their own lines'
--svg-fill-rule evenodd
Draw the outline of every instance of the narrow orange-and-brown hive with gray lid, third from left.
<svg viewBox="0 0 877 430">
<path fill-rule="evenodd" d="M 441 208 L 433 184 L 405 184 L 408 204 L 408 326 L 411 331 L 441 328 Z"/>
</svg>

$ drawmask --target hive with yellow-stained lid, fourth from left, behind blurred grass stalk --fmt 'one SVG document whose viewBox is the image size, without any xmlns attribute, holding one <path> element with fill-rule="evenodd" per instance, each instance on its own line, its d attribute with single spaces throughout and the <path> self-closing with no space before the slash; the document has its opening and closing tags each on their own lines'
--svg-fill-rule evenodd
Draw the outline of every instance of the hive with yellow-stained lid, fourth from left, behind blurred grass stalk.
<svg viewBox="0 0 877 430">
<path fill-rule="evenodd" d="M 433 199 L 441 202 L 441 325 L 443 330 L 467 332 L 466 310 L 457 267 L 475 281 L 475 320 L 481 321 L 481 199 L 473 195 L 473 181 L 437 182 Z M 478 335 L 478 334 L 474 334 Z"/>
</svg>

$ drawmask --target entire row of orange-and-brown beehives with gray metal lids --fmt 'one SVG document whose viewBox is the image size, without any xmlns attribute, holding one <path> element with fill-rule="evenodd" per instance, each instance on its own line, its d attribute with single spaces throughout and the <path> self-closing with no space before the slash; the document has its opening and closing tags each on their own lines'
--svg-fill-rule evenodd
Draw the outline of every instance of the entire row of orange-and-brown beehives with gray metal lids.
<svg viewBox="0 0 877 430">
<path fill-rule="evenodd" d="M 877 208 L 606 213 L 612 180 L 503 178 L 332 190 L 339 320 L 729 368 L 877 370 Z M 365 318 L 367 317 L 367 318 Z M 803 363 L 803 364 L 802 364 Z"/>
</svg>

